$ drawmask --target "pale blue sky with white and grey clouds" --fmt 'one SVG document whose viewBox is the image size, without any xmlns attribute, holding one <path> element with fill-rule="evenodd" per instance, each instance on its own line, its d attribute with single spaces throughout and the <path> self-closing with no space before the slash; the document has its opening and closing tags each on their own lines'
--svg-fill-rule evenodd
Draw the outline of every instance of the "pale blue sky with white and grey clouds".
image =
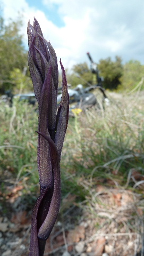
<svg viewBox="0 0 144 256">
<path fill-rule="evenodd" d="M 123 63 L 144 64 L 143 0 L 0 0 L 4 20 L 22 16 L 23 42 L 28 49 L 27 24 L 35 17 L 65 68 L 98 63 L 118 55 Z"/>
</svg>

